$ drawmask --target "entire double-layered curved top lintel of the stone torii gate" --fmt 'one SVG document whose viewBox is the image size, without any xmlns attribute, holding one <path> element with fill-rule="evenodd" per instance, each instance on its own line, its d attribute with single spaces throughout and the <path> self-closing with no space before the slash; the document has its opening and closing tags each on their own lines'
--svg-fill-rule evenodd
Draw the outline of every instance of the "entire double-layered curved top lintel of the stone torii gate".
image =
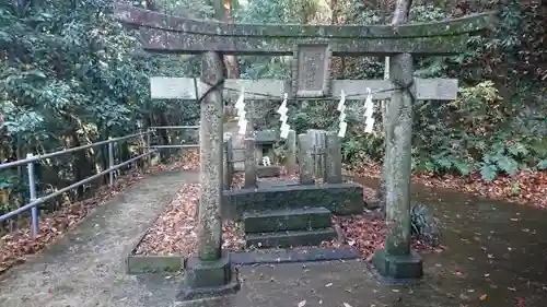
<svg viewBox="0 0 547 307">
<path fill-rule="evenodd" d="M 473 33 L 494 25 L 486 12 L 434 23 L 391 25 L 228 24 L 191 20 L 117 3 L 118 21 L 140 27 L 146 50 L 172 54 L 219 51 L 292 55 L 298 45 L 329 45 L 333 55 L 450 55 L 466 48 Z"/>
</svg>

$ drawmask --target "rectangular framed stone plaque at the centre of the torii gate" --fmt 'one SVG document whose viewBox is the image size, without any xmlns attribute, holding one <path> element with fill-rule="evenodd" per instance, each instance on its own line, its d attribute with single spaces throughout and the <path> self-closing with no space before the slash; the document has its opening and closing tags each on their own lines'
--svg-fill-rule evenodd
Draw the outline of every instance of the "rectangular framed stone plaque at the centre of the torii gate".
<svg viewBox="0 0 547 307">
<path fill-rule="evenodd" d="M 294 57 L 293 88 L 298 97 L 324 97 L 330 87 L 330 57 L 328 45 L 299 45 Z"/>
</svg>

